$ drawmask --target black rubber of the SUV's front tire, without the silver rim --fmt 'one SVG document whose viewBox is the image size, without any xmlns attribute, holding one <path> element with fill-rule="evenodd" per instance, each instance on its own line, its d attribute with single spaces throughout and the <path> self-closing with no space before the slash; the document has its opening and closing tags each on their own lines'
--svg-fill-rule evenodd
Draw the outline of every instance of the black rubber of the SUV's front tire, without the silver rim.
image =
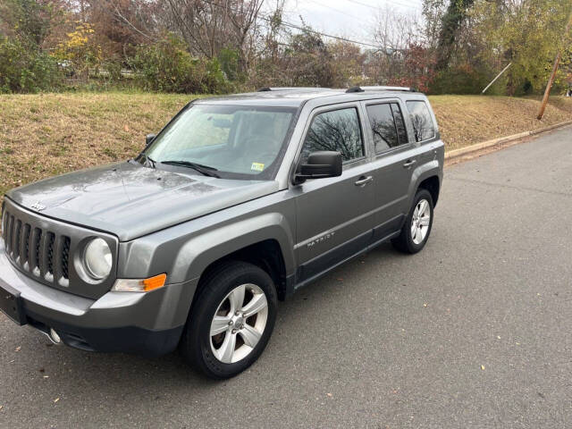
<svg viewBox="0 0 572 429">
<path fill-rule="evenodd" d="M 257 345 L 238 362 L 226 364 L 215 357 L 211 348 L 211 323 L 223 299 L 238 286 L 252 283 L 264 291 L 268 313 L 264 332 Z M 256 265 L 230 262 L 210 275 L 191 308 L 181 339 L 181 353 L 187 362 L 215 380 L 231 378 L 251 366 L 264 351 L 276 320 L 276 288 L 270 276 Z M 226 335 L 226 334 L 225 334 Z M 237 337 L 238 338 L 238 337 Z"/>
</svg>

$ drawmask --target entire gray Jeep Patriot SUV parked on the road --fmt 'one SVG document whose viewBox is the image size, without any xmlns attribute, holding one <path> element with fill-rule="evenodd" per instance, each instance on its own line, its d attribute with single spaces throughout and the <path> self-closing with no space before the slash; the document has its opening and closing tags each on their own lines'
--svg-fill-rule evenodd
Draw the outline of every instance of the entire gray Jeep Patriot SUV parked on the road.
<svg viewBox="0 0 572 429">
<path fill-rule="evenodd" d="M 137 158 L 6 194 L 0 308 L 55 343 L 239 374 L 278 299 L 384 241 L 424 248 L 443 152 L 408 88 L 192 101 Z"/>
</svg>

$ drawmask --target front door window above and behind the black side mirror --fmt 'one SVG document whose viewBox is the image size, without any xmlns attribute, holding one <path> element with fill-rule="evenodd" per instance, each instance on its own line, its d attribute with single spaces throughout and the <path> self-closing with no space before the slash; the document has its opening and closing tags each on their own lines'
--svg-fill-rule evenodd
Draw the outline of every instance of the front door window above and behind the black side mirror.
<svg viewBox="0 0 572 429">
<path fill-rule="evenodd" d="M 320 150 L 341 152 L 344 162 L 364 156 L 364 141 L 355 107 L 315 116 L 304 140 L 302 159 Z"/>
</svg>

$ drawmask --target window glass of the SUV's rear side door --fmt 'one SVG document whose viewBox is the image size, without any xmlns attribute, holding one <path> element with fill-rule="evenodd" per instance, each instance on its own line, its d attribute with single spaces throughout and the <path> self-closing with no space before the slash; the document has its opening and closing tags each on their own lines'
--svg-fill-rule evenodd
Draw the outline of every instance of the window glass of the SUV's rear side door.
<svg viewBox="0 0 572 429">
<path fill-rule="evenodd" d="M 400 105 L 397 103 L 368 105 L 366 110 L 374 133 L 376 154 L 390 147 L 398 147 L 408 143 L 408 133 L 405 129 Z"/>
</svg>

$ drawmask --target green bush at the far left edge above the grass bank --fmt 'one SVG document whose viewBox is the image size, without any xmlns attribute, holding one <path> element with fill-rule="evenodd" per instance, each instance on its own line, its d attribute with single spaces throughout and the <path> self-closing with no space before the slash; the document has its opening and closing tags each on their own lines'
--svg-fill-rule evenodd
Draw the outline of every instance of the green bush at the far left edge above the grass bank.
<svg viewBox="0 0 572 429">
<path fill-rule="evenodd" d="M 18 38 L 0 36 L 0 92 L 52 90 L 61 78 L 55 58 Z"/>
</svg>

